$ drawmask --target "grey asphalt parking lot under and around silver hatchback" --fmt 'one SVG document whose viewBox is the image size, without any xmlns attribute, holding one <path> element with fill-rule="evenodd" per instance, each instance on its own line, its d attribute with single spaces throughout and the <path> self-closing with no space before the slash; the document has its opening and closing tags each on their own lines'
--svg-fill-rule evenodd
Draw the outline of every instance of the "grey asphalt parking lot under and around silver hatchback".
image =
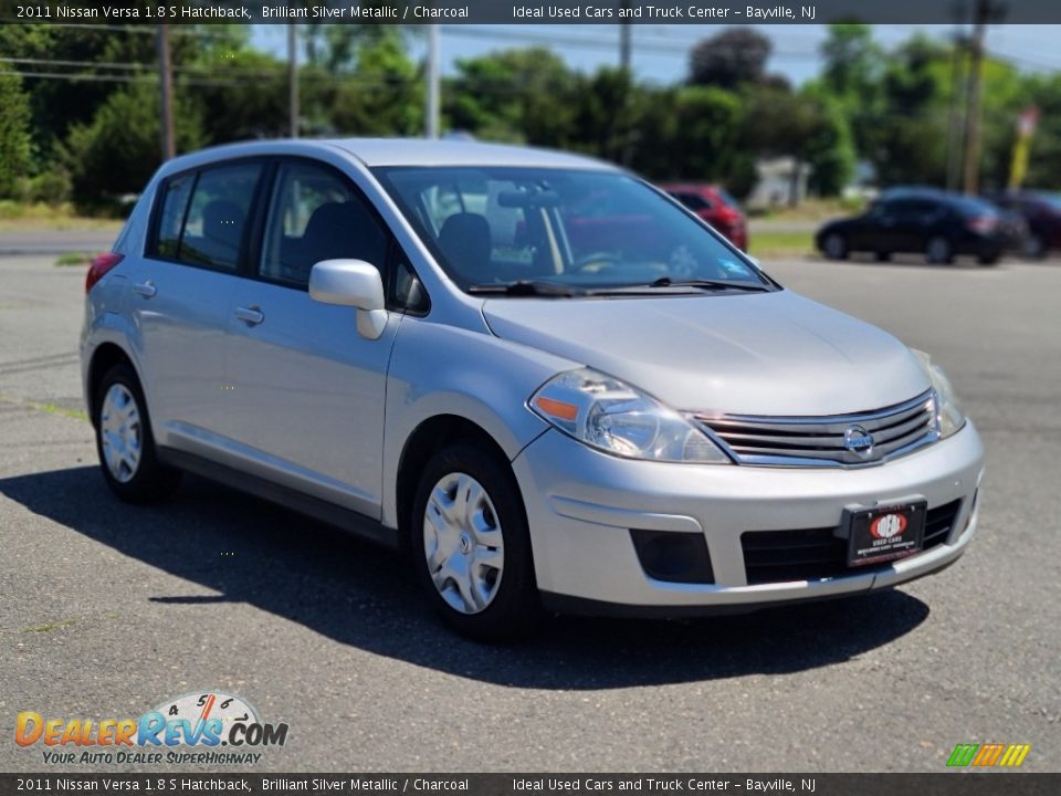
<svg viewBox="0 0 1061 796">
<path fill-rule="evenodd" d="M 956 566 L 489 648 L 329 527 L 196 479 L 159 506 L 114 499 L 81 415 L 84 271 L 53 261 L 0 258 L 0 771 L 143 771 L 46 765 L 15 714 L 136 718 L 200 690 L 288 723 L 252 771 L 943 771 L 983 742 L 1061 771 L 1061 262 L 766 264 L 949 373 L 988 451 Z"/>
</svg>

